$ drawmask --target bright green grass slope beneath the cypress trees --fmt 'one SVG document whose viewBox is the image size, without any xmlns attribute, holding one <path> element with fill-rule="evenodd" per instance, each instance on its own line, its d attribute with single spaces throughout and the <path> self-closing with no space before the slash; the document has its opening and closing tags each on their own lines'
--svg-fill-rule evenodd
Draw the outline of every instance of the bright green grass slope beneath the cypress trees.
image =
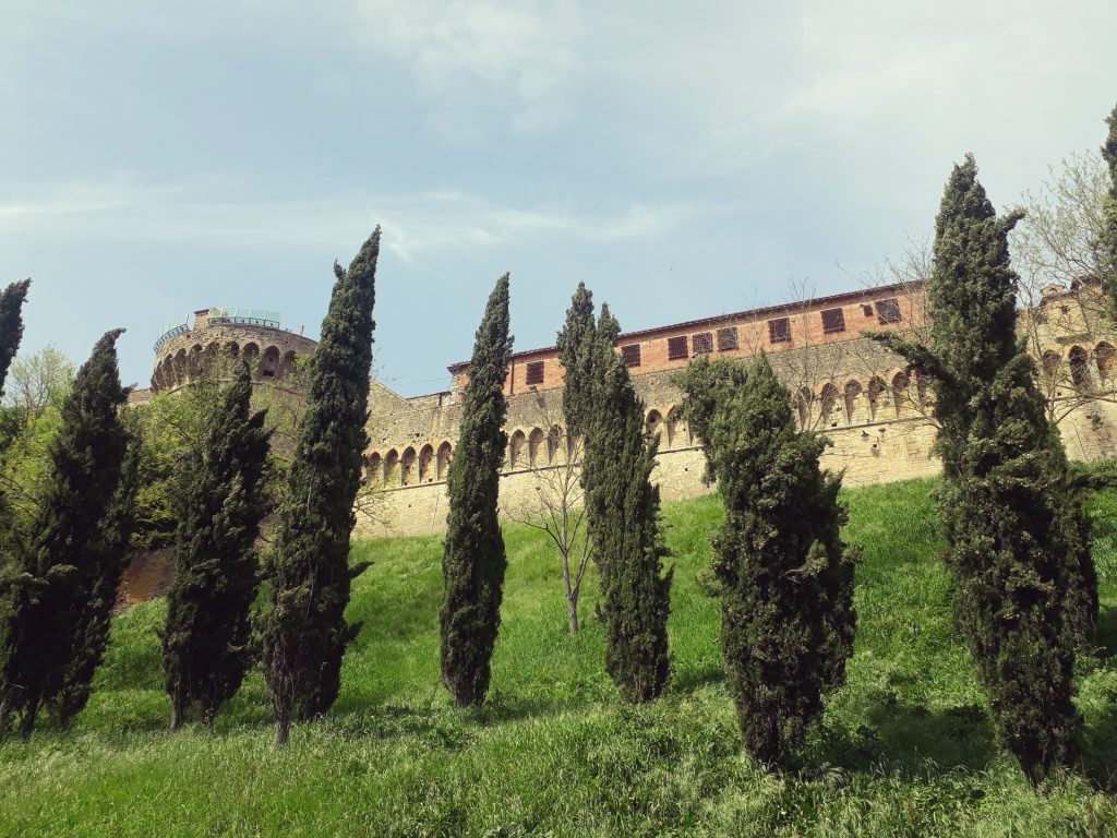
<svg viewBox="0 0 1117 838">
<path fill-rule="evenodd" d="M 566 634 L 554 554 L 506 531 L 509 574 L 493 688 L 454 710 L 438 684 L 438 539 L 356 546 L 364 628 L 334 710 L 277 750 L 254 675 L 216 729 L 165 732 L 162 602 L 116 620 L 89 707 L 68 733 L 0 745 L 3 836 L 1089 836 L 1117 834 L 1117 494 L 1097 498 L 1104 648 L 1079 665 L 1085 775 L 1032 790 L 994 742 L 936 559 L 932 482 L 846 494 L 861 544 L 849 683 L 772 777 L 741 749 L 722 680 L 718 609 L 701 592 L 714 497 L 669 505 L 677 563 L 674 675 L 647 707 L 602 669 L 588 577 L 585 628 Z M 592 574 L 592 571 L 591 571 Z"/>
</svg>

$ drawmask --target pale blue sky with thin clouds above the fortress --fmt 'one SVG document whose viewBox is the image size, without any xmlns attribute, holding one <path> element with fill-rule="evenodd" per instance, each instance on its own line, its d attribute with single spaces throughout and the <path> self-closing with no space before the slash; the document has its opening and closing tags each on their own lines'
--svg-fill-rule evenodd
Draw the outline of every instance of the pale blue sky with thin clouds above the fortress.
<svg viewBox="0 0 1117 838">
<path fill-rule="evenodd" d="M 317 334 L 383 228 L 376 375 L 446 388 L 512 274 L 626 330 L 860 287 L 976 155 L 1009 207 L 1105 137 L 1111 0 L 0 0 L 0 282 L 125 383 L 209 306 Z"/>
</svg>

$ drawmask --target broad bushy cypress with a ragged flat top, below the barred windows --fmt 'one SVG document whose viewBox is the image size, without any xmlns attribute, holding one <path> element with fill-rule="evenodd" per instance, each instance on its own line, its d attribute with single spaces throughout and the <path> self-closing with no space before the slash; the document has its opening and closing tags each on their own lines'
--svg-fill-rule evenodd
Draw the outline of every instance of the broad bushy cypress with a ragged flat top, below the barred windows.
<svg viewBox="0 0 1117 838">
<path fill-rule="evenodd" d="M 789 768 L 853 654 L 857 551 L 839 534 L 841 476 L 819 467 L 829 439 L 795 430 L 766 356 L 747 368 L 703 356 L 678 383 L 725 504 L 713 544 L 729 692 L 748 752 Z"/>
</svg>

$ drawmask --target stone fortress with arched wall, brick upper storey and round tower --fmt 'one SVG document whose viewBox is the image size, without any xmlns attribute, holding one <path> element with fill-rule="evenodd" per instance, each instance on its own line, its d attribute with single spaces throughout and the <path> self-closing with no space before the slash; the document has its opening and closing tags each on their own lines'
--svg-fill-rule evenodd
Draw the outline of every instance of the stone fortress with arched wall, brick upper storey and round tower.
<svg viewBox="0 0 1117 838">
<path fill-rule="evenodd" d="M 1052 418 L 1076 459 L 1117 456 L 1117 337 L 1099 314 L 1100 299 L 1096 284 L 1052 286 L 1021 317 Z M 663 499 L 710 491 L 703 483 L 705 459 L 698 440 L 672 415 L 680 396 L 672 377 L 699 354 L 746 359 L 767 353 L 793 393 L 800 427 L 830 437 L 823 465 L 844 470 L 846 485 L 936 474 L 935 426 L 925 382 L 862 334 L 906 330 L 918 335 L 926 328 L 926 315 L 924 288 L 916 283 L 621 334 L 618 352 L 645 401 L 647 434 L 660 438 L 653 479 Z M 182 318 L 160 336 L 152 391 L 188 384 L 213 355 L 245 359 L 260 385 L 284 387 L 314 346 L 314 341 L 283 328 L 274 312 L 201 310 L 192 322 Z M 458 439 L 468 363 L 451 364 L 449 371 L 448 390 L 412 398 L 372 382 L 365 485 L 374 502 L 359 504 L 362 535 L 420 535 L 445 528 L 446 476 Z M 297 387 L 290 378 L 290 385 Z M 510 359 L 504 512 L 526 508 L 545 488 L 547 473 L 567 467 L 571 442 L 562 431 L 562 378 L 553 346 Z"/>
</svg>

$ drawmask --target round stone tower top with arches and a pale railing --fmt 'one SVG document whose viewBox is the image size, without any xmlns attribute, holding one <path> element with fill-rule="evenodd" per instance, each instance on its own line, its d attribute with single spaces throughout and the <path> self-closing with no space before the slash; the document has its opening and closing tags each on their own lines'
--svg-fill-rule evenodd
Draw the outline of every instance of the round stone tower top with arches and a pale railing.
<svg viewBox="0 0 1117 838">
<path fill-rule="evenodd" d="M 257 381 L 280 381 L 316 345 L 284 328 L 278 312 L 201 308 L 171 323 L 155 341 L 151 389 L 178 390 L 214 362 L 233 359 L 247 361 Z"/>
</svg>

